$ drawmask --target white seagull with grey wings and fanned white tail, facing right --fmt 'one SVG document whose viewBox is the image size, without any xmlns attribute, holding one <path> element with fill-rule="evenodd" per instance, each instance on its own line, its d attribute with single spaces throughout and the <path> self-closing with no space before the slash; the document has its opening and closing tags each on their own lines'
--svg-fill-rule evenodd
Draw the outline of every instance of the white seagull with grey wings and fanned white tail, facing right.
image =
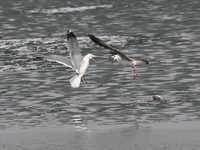
<svg viewBox="0 0 200 150">
<path fill-rule="evenodd" d="M 68 52 L 70 54 L 70 58 L 59 56 L 59 55 L 49 55 L 45 56 L 44 59 L 51 62 L 57 62 L 63 64 L 73 70 L 76 71 L 76 75 L 73 76 L 69 82 L 71 87 L 78 88 L 80 86 L 80 82 L 83 82 L 83 76 L 86 73 L 86 70 L 89 66 L 89 60 L 92 59 L 94 62 L 94 57 L 97 55 L 87 54 L 85 56 L 81 55 L 80 48 L 78 46 L 78 41 L 73 32 L 67 31 L 67 43 L 68 43 Z M 85 80 L 85 83 L 88 82 Z"/>
</svg>

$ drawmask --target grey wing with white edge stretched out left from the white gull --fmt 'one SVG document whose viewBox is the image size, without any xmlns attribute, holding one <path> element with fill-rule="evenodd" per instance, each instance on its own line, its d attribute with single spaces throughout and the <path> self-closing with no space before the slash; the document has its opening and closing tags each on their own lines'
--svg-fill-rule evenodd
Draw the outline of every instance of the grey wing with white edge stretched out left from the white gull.
<svg viewBox="0 0 200 150">
<path fill-rule="evenodd" d="M 66 56 L 49 55 L 49 56 L 45 56 L 44 59 L 51 61 L 51 62 L 57 62 L 59 64 L 63 64 L 67 67 L 74 69 L 71 60 L 69 58 L 67 58 Z"/>
</svg>

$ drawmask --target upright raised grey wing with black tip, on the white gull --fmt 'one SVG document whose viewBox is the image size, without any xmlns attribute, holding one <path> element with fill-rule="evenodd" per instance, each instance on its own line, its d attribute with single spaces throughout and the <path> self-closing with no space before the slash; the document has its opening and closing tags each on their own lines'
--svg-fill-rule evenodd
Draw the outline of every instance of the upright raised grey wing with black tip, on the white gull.
<svg viewBox="0 0 200 150">
<path fill-rule="evenodd" d="M 76 36 L 74 35 L 73 32 L 69 30 L 67 31 L 67 42 L 68 42 L 68 51 L 70 53 L 71 62 L 74 66 L 74 69 L 78 71 L 83 56 L 81 55 Z"/>
</svg>

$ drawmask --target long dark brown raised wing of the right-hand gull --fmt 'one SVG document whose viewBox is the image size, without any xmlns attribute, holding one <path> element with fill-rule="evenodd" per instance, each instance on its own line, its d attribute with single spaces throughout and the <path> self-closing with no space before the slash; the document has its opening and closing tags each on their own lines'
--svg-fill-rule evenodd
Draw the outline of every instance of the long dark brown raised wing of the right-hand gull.
<svg viewBox="0 0 200 150">
<path fill-rule="evenodd" d="M 106 44 L 105 42 L 103 42 L 101 39 L 95 37 L 93 34 L 88 34 L 89 38 L 96 44 L 98 44 L 101 47 L 104 47 L 106 49 L 110 49 L 111 50 L 111 54 L 112 55 L 120 55 L 120 57 L 122 57 L 125 60 L 131 60 L 129 57 L 127 57 L 124 53 L 120 52 L 119 50 L 111 47 L 110 45 Z"/>
</svg>

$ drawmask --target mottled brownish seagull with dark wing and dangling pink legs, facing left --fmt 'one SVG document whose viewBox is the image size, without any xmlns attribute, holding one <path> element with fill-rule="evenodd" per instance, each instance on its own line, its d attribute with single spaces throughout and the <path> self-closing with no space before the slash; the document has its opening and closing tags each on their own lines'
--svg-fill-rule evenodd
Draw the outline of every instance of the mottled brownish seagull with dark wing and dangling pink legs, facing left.
<svg viewBox="0 0 200 150">
<path fill-rule="evenodd" d="M 88 34 L 88 36 L 94 43 L 98 44 L 99 46 L 104 47 L 106 49 L 110 49 L 110 53 L 112 54 L 111 58 L 113 58 L 112 63 L 116 60 L 122 66 L 132 67 L 134 69 L 133 79 L 135 79 L 138 76 L 137 66 L 149 64 L 149 61 L 144 60 L 144 59 L 134 60 L 134 59 L 129 58 L 124 53 L 122 53 L 121 51 L 111 47 L 108 44 L 106 44 L 101 39 L 95 37 L 93 34 Z"/>
</svg>

